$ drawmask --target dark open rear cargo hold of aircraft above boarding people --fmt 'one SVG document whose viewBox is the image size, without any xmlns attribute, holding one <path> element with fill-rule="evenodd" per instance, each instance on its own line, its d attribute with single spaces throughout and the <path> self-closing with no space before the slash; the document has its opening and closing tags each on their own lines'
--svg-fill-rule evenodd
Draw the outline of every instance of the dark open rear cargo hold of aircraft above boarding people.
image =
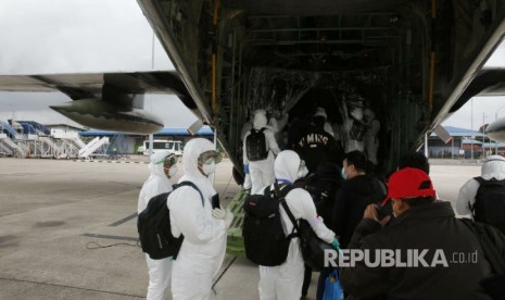
<svg viewBox="0 0 505 300">
<path fill-rule="evenodd" d="M 503 70 L 482 70 L 505 35 L 503 1 L 138 3 L 238 167 L 240 129 L 255 109 L 294 120 L 323 107 L 343 124 L 369 108 L 387 172 L 468 99 L 505 82 Z"/>
</svg>

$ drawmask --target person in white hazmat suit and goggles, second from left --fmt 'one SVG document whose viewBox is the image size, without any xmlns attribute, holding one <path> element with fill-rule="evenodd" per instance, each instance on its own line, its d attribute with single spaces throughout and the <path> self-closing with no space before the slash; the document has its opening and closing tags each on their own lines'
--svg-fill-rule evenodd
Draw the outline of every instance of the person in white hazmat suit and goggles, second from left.
<svg viewBox="0 0 505 300">
<path fill-rule="evenodd" d="M 212 198 L 217 192 L 209 179 L 220 159 L 207 139 L 194 138 L 186 143 L 182 154 L 185 175 L 179 183 L 193 183 L 202 196 L 194 188 L 184 186 L 168 197 L 172 234 L 185 237 L 172 272 L 174 300 L 209 299 L 212 279 L 225 258 L 226 229 L 233 215 L 220 207 L 213 210 Z"/>
</svg>

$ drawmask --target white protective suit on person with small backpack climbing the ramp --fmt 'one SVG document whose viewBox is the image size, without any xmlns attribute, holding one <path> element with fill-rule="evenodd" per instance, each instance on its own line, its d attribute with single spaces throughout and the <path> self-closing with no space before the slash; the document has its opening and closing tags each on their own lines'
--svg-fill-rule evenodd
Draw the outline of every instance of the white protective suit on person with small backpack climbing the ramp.
<svg viewBox="0 0 505 300">
<path fill-rule="evenodd" d="M 262 161 L 250 162 L 248 160 L 248 152 L 247 152 L 247 139 L 248 136 L 251 134 L 249 132 L 243 138 L 243 164 L 249 164 L 249 172 L 251 175 L 251 195 L 257 193 L 262 190 L 262 188 L 272 185 L 275 180 L 274 176 L 274 161 L 277 153 L 280 152 L 279 146 L 277 145 L 275 133 L 267 127 L 267 118 L 266 112 L 264 110 L 257 110 L 254 112 L 254 121 L 253 127 L 256 130 L 262 128 L 267 128 L 263 132 L 265 134 L 266 147 L 269 150 L 268 157 Z"/>
</svg>

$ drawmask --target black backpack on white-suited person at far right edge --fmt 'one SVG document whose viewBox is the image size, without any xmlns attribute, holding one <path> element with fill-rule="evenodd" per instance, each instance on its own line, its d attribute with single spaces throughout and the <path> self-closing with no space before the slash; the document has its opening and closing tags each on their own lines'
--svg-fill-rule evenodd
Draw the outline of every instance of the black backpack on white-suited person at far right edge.
<svg viewBox="0 0 505 300">
<path fill-rule="evenodd" d="M 475 221 L 492 225 L 505 234 L 505 179 L 485 180 L 480 176 L 474 179 L 479 183 L 471 207 Z"/>
</svg>

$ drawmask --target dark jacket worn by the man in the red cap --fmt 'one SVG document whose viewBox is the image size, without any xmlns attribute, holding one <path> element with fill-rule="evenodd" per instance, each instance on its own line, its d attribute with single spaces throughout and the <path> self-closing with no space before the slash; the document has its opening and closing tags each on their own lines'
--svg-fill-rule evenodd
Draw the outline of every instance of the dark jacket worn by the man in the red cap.
<svg viewBox="0 0 505 300">
<path fill-rule="evenodd" d="M 497 248 L 505 255 L 505 237 L 497 235 Z M 352 249 L 400 249 L 405 261 L 407 249 L 428 249 L 425 261 L 431 264 L 441 249 L 447 267 L 355 267 L 341 268 L 346 292 L 365 298 L 386 299 L 491 299 L 479 279 L 491 275 L 491 266 L 470 229 L 457 220 L 450 202 L 411 208 L 381 229 L 374 220 L 363 220 L 349 245 Z M 477 263 L 453 263 L 457 253 L 476 253 Z M 455 254 L 456 253 L 456 254 Z"/>
</svg>

